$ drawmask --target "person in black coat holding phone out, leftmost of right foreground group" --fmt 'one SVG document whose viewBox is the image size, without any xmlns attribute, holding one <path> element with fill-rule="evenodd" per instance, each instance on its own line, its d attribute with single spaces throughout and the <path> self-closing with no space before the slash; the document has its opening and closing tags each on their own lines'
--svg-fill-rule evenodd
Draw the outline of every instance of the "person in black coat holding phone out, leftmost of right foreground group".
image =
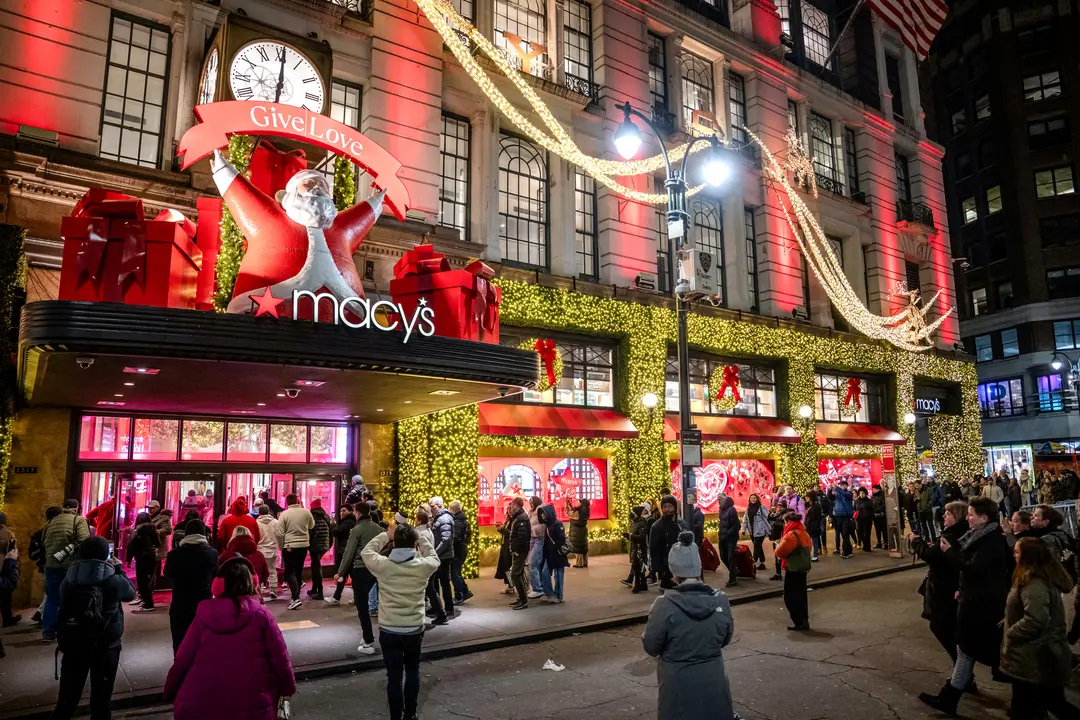
<svg viewBox="0 0 1080 720">
<path fill-rule="evenodd" d="M 930 621 L 930 631 L 933 633 L 949 658 L 956 663 L 956 593 L 960 589 L 960 538 L 970 529 L 968 527 L 968 503 L 950 502 L 945 505 L 942 515 L 942 538 L 948 543 L 948 551 L 943 551 L 937 543 L 908 532 L 907 542 L 912 553 L 927 563 L 927 578 L 922 583 L 922 617 Z M 975 692 L 975 681 L 972 679 L 967 689 Z"/>
</svg>

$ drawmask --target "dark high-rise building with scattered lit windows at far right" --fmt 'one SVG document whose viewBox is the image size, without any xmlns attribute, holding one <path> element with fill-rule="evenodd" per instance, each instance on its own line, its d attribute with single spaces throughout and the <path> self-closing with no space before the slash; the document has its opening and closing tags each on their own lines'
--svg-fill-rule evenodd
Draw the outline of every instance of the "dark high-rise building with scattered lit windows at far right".
<svg viewBox="0 0 1080 720">
<path fill-rule="evenodd" d="M 1075 2 L 955 2 L 924 66 L 987 470 L 1071 463 L 1080 440 L 1078 28 Z"/>
</svg>

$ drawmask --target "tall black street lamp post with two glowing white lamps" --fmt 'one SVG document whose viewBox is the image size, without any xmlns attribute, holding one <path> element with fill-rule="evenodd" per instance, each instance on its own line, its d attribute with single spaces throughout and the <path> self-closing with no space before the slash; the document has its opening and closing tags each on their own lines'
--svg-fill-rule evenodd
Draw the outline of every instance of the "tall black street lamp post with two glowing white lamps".
<svg viewBox="0 0 1080 720">
<path fill-rule="evenodd" d="M 675 297 L 675 316 L 678 325 L 678 416 L 679 416 L 679 463 L 681 467 L 683 483 L 683 517 L 687 522 L 693 517 L 693 508 L 690 506 L 689 495 L 694 490 L 693 467 L 701 463 L 701 445 L 697 444 L 694 458 L 684 458 L 684 444 L 688 440 L 688 435 L 692 434 L 693 422 L 690 417 L 690 348 L 687 335 L 687 315 L 690 312 L 688 296 L 691 291 L 690 279 L 683 274 L 684 255 L 688 252 L 687 233 L 690 228 L 690 214 L 686 209 L 686 163 L 690 158 L 690 152 L 699 142 L 708 142 L 712 149 L 705 161 L 705 181 L 712 186 L 718 186 L 730 173 L 727 162 L 721 155 L 723 149 L 716 137 L 699 136 L 690 140 L 683 155 L 683 163 L 679 167 L 672 167 L 671 159 L 667 157 L 667 149 L 664 147 L 663 137 L 652 120 L 638 110 L 631 107 L 630 101 L 616 106 L 623 111 L 623 121 L 615 134 L 616 149 L 624 159 L 630 160 L 642 147 L 642 134 L 634 124 L 632 118 L 639 118 L 657 136 L 660 151 L 664 159 L 664 167 L 667 171 L 667 178 L 664 180 L 664 188 L 667 190 L 667 242 L 670 243 L 669 256 L 678 268 L 678 282 L 673 283 L 673 295 Z M 692 460 L 691 463 L 685 460 Z"/>
</svg>

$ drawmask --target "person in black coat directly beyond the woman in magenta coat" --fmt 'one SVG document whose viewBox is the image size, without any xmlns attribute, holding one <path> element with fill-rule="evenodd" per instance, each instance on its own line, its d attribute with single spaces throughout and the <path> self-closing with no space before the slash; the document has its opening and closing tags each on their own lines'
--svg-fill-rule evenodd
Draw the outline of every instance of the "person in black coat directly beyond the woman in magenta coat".
<svg viewBox="0 0 1080 720">
<path fill-rule="evenodd" d="M 165 576 L 173 581 L 168 627 L 174 655 L 194 622 L 199 603 L 211 598 L 211 584 L 216 574 L 217 551 L 206 540 L 206 526 L 199 519 L 188 520 L 184 526 L 184 540 L 165 557 Z"/>
</svg>

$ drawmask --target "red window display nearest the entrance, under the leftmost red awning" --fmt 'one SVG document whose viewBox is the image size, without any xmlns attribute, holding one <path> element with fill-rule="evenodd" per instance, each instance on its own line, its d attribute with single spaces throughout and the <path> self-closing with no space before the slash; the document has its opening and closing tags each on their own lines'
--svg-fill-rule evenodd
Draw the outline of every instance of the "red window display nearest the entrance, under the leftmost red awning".
<svg viewBox="0 0 1080 720">
<path fill-rule="evenodd" d="M 498 526 L 505 520 L 514 498 L 532 495 L 555 507 L 564 522 L 566 505 L 589 500 L 589 519 L 606 520 L 608 461 L 605 458 L 481 458 L 480 525 Z"/>
</svg>

